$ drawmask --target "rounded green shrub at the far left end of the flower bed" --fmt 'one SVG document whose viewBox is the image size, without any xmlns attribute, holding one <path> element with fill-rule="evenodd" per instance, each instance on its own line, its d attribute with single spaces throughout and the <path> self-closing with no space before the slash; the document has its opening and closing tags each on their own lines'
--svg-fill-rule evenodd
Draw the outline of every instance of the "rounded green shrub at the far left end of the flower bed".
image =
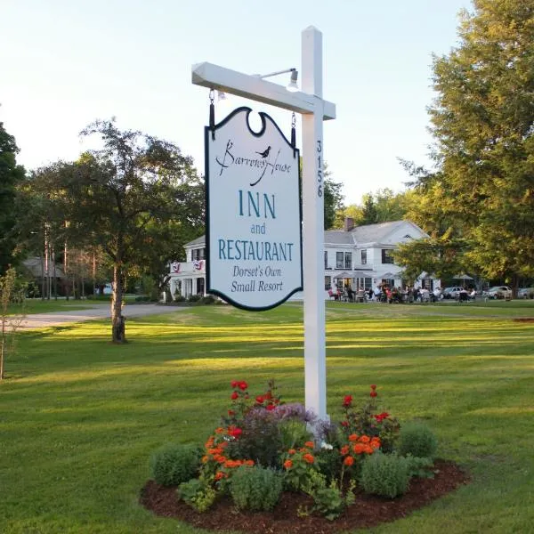
<svg viewBox="0 0 534 534">
<path fill-rule="evenodd" d="M 197 475 L 200 456 L 196 445 L 168 443 L 150 457 L 150 472 L 158 484 L 177 486 Z"/>
</svg>

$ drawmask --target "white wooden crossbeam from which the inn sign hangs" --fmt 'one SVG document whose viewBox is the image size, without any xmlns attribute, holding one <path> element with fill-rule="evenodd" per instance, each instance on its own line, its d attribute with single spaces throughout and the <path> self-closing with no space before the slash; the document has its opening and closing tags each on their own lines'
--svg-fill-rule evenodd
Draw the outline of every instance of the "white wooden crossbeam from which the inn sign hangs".
<svg viewBox="0 0 534 534">
<path fill-rule="evenodd" d="M 318 100 L 320 100 L 313 94 L 302 91 L 291 93 L 283 85 L 243 74 L 237 70 L 225 69 L 207 61 L 193 65 L 191 81 L 195 85 L 289 109 L 289 111 L 303 115 L 317 111 Z M 320 103 L 323 106 L 323 120 L 336 118 L 336 104 L 322 100 Z"/>
</svg>

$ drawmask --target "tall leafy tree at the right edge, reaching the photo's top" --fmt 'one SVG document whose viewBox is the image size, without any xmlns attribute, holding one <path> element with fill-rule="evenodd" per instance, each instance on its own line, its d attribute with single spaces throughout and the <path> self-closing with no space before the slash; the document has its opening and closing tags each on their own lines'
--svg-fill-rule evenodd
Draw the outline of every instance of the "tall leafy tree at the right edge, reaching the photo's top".
<svg viewBox="0 0 534 534">
<path fill-rule="evenodd" d="M 438 169 L 412 169 L 425 230 L 464 239 L 466 271 L 512 287 L 534 274 L 533 10 L 532 0 L 475 0 L 463 12 L 459 45 L 433 59 Z"/>
</svg>

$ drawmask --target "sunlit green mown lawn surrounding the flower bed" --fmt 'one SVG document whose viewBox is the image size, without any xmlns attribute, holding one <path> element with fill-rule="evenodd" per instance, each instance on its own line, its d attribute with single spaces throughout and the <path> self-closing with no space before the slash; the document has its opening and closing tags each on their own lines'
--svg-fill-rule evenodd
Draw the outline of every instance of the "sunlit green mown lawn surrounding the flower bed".
<svg viewBox="0 0 534 534">
<path fill-rule="evenodd" d="M 19 336 L 0 384 L 0 532 L 200 533 L 137 504 L 150 452 L 202 441 L 232 379 L 261 392 L 274 377 L 303 401 L 302 306 L 262 313 L 190 307 Z M 328 411 L 378 384 L 401 420 L 423 417 L 440 456 L 470 485 L 373 533 L 534 531 L 534 318 L 531 301 L 328 303 Z"/>
</svg>

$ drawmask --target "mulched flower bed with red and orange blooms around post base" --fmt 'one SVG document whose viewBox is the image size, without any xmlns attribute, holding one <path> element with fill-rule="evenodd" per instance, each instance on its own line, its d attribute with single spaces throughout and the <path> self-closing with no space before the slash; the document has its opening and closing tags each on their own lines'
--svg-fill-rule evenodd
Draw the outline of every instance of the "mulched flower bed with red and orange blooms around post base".
<svg viewBox="0 0 534 534">
<path fill-rule="evenodd" d="M 467 480 L 457 466 L 434 462 L 427 426 L 401 428 L 379 409 L 375 384 L 360 406 L 344 397 L 337 425 L 285 404 L 273 381 L 257 396 L 245 381 L 231 388 L 231 405 L 204 447 L 156 451 L 143 506 L 208 529 L 232 509 L 223 530 L 329 532 L 391 521 Z"/>
</svg>

